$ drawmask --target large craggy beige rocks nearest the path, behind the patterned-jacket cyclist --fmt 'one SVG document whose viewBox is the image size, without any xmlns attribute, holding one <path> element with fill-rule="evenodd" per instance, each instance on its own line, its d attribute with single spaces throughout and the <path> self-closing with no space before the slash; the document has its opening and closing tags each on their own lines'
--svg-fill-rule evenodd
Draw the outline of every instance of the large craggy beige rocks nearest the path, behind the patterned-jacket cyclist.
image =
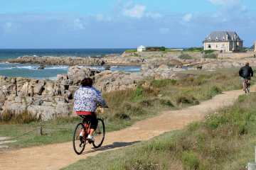
<svg viewBox="0 0 256 170">
<path fill-rule="evenodd" d="M 54 81 L 49 79 L 27 79 L 23 77 L 0 76 L 0 114 L 15 111 L 16 114 L 28 111 L 49 120 L 75 115 L 73 111 L 73 94 L 80 87 L 85 77 L 95 80 L 95 88 L 102 92 L 134 89 L 136 81 L 145 79 L 172 79 L 182 68 L 169 69 L 167 65 L 156 67 L 145 64 L 142 72 L 119 72 L 89 69 L 87 67 L 70 67 L 67 74 L 58 74 Z"/>
</svg>

